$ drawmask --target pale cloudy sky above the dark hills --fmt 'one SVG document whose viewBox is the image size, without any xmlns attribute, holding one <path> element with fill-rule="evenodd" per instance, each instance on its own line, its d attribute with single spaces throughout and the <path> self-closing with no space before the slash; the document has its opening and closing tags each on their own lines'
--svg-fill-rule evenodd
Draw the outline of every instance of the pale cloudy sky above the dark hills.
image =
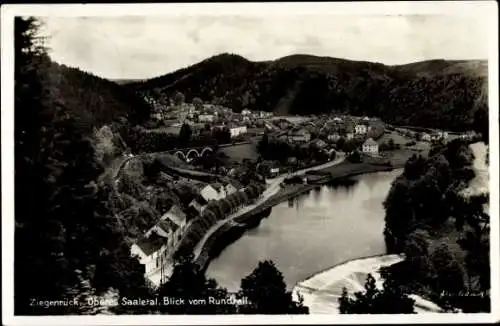
<svg viewBox="0 0 500 326">
<path fill-rule="evenodd" d="M 46 17 L 53 60 L 110 79 L 145 79 L 235 53 L 290 54 L 404 64 L 487 59 L 488 21 L 478 15 L 191 15 Z"/>
</svg>

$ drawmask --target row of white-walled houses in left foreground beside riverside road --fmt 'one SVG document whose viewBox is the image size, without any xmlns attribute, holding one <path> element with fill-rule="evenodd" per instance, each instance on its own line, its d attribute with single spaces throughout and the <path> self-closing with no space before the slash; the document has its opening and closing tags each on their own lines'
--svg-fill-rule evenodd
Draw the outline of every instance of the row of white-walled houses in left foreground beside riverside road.
<svg viewBox="0 0 500 326">
<path fill-rule="evenodd" d="M 198 194 L 183 210 L 173 205 L 130 249 L 144 265 L 144 276 L 158 286 L 170 276 L 173 254 L 186 233 L 189 221 L 200 216 L 211 200 L 220 200 L 235 193 L 239 185 L 232 183 L 212 183 L 202 185 Z"/>
</svg>

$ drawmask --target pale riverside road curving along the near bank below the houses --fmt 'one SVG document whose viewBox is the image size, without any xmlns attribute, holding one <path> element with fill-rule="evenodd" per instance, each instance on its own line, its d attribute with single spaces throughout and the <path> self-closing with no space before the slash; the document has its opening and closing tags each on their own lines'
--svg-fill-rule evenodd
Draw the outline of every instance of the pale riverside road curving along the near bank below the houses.
<svg viewBox="0 0 500 326">
<path fill-rule="evenodd" d="M 324 163 L 321 165 L 305 168 L 302 170 L 295 171 L 293 173 L 286 173 L 286 174 L 278 176 L 276 178 L 266 180 L 267 189 L 262 193 L 261 197 L 259 197 L 259 199 L 254 204 L 242 207 L 237 212 L 229 215 L 224 220 L 218 221 L 210 229 L 208 229 L 207 233 L 203 236 L 203 238 L 201 238 L 201 240 L 197 243 L 196 247 L 193 250 L 194 259 L 198 258 L 198 256 L 201 253 L 201 250 L 203 249 L 203 246 L 205 245 L 205 242 L 210 238 L 210 236 L 215 231 L 217 231 L 222 225 L 228 223 L 229 221 L 232 221 L 235 218 L 237 218 L 237 217 L 247 213 L 248 211 L 258 207 L 259 205 L 262 205 L 263 203 L 265 203 L 269 198 L 271 198 L 272 196 L 274 196 L 275 194 L 278 193 L 278 191 L 280 190 L 280 184 L 283 182 L 283 180 L 285 180 L 286 178 L 288 178 L 290 176 L 303 175 L 304 173 L 306 173 L 308 171 L 321 170 L 324 168 L 328 168 L 328 167 L 340 164 L 344 161 L 344 159 L 345 159 L 345 157 L 341 156 L 341 157 L 336 158 L 333 161 L 330 161 L 330 162 L 327 162 L 327 163 Z"/>
</svg>

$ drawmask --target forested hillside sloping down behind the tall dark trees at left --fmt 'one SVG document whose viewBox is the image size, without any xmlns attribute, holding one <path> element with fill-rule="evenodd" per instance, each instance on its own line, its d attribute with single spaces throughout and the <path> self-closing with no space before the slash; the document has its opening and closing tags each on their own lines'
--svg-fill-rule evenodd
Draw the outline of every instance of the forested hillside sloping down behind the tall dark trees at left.
<svg viewBox="0 0 500 326">
<path fill-rule="evenodd" d="M 44 66 L 42 82 L 50 98 L 68 108 L 81 132 L 87 134 L 120 118 L 138 124 L 150 115 L 151 108 L 141 97 L 115 82 L 48 59 Z"/>
</svg>

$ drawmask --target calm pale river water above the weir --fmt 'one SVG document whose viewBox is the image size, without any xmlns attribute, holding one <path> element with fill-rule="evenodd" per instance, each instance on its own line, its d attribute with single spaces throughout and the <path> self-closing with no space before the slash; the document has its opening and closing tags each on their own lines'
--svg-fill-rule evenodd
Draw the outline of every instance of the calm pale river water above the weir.
<svg viewBox="0 0 500 326">
<path fill-rule="evenodd" d="M 401 169 L 323 185 L 273 207 L 270 216 L 212 260 L 207 276 L 229 291 L 258 262 L 271 259 L 291 290 L 297 282 L 346 260 L 385 253 L 383 201 Z"/>
</svg>

